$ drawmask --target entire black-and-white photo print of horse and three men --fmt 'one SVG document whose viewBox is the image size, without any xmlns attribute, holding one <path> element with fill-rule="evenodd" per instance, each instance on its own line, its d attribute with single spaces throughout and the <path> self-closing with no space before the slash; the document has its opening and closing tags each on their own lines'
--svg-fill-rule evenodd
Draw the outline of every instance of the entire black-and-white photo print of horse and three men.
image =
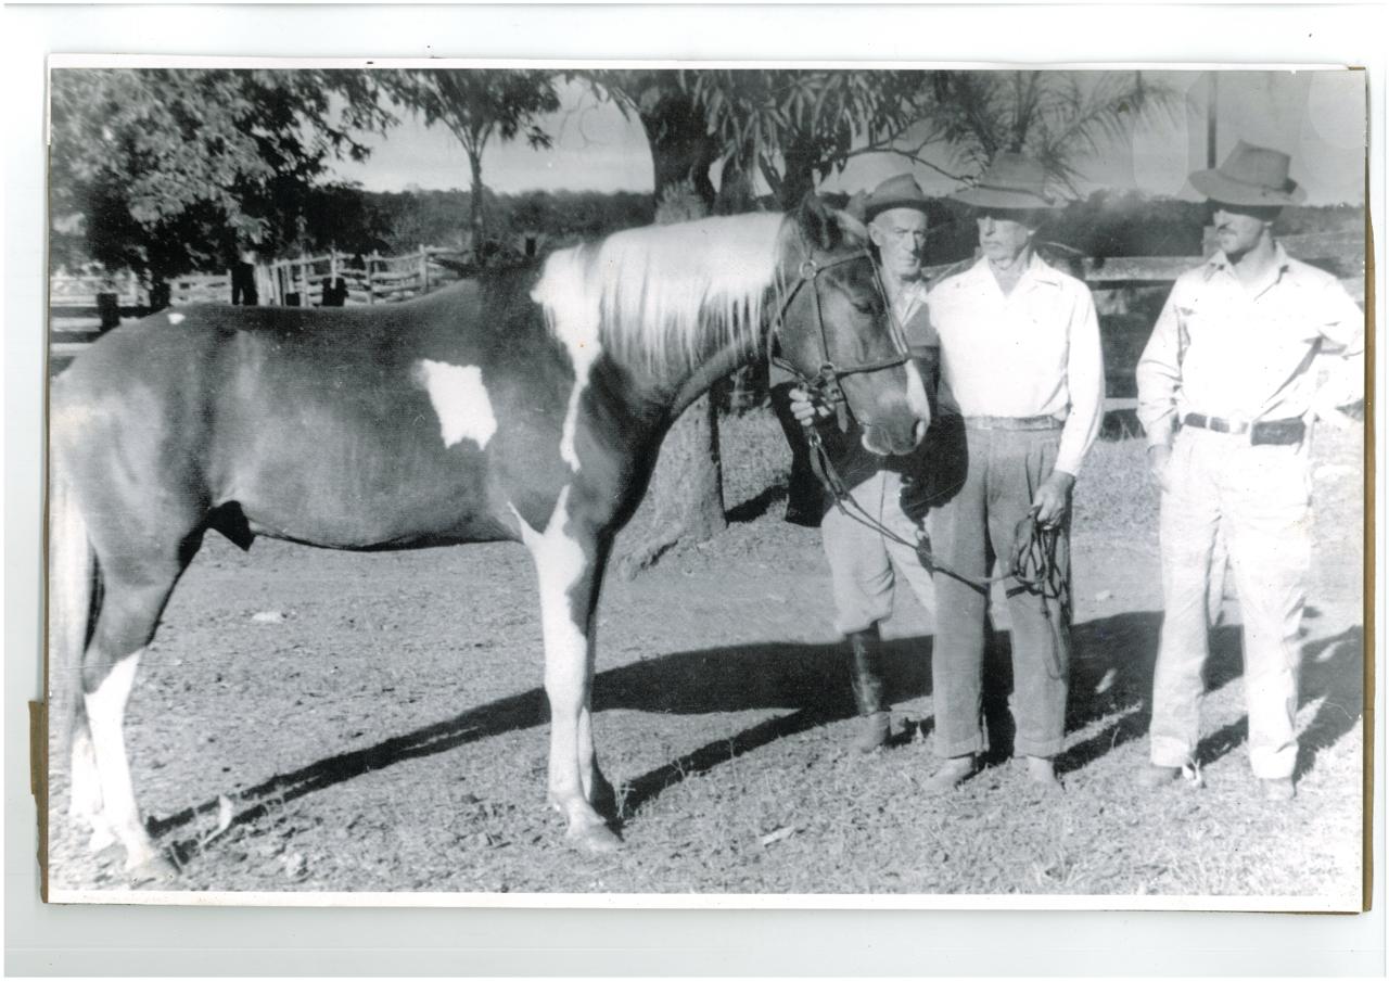
<svg viewBox="0 0 1389 982">
<path fill-rule="evenodd" d="M 1364 72 L 49 113 L 49 900 L 1361 910 Z"/>
</svg>

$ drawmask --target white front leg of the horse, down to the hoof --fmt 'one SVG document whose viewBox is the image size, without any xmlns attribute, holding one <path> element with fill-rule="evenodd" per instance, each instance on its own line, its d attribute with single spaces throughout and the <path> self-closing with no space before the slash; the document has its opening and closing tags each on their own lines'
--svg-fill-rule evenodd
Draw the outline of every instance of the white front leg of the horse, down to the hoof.
<svg viewBox="0 0 1389 982">
<path fill-rule="evenodd" d="M 568 822 L 568 838 L 586 851 L 610 851 L 618 838 L 593 808 L 593 733 L 589 696 L 593 688 L 590 643 L 593 599 L 599 582 L 596 536 L 579 531 L 561 492 L 544 532 L 522 524 L 540 586 L 544 635 L 544 693 L 550 701 L 550 804 Z M 599 775 L 601 776 L 601 775 Z"/>
</svg>

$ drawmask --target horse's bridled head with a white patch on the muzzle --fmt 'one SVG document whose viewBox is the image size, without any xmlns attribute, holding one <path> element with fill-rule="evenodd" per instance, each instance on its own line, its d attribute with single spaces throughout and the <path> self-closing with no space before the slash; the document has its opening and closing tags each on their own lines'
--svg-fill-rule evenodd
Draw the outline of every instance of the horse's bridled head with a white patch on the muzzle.
<svg viewBox="0 0 1389 982">
<path fill-rule="evenodd" d="M 790 225 L 778 321 L 782 360 L 831 401 L 847 403 L 868 450 L 908 453 L 925 436 L 931 408 L 888 313 L 863 225 L 814 194 Z"/>
</svg>

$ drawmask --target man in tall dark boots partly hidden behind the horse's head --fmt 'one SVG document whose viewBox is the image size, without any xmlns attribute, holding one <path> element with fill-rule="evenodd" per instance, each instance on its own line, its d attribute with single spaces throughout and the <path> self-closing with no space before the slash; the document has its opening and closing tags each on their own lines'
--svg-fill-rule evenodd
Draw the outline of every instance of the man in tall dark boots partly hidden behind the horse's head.
<svg viewBox="0 0 1389 982">
<path fill-rule="evenodd" d="M 879 264 L 879 274 L 890 313 L 901 329 L 911 354 L 910 369 L 922 383 L 922 396 L 932 397 L 939 361 L 935 332 L 926 317 L 926 286 L 921 276 L 922 250 L 929 215 L 936 206 L 922 193 L 910 174 L 888 178 L 872 192 L 856 194 L 849 214 L 864 224 Z M 933 607 L 931 574 L 921 564 L 915 549 L 918 515 L 903 508 L 901 489 L 924 478 L 932 464 L 924 450 L 906 457 L 879 457 L 863 446 L 857 424 L 833 425 L 828 411 L 817 411 L 804 392 L 790 389 L 789 379 L 778 392 L 781 379 L 772 378 L 774 404 L 785 400 L 803 425 L 820 429 L 831 465 L 849 488 L 861 510 L 874 522 L 889 529 L 896 539 L 858 518 L 822 501 L 821 542 L 829 564 L 835 600 L 835 628 L 845 636 L 850 656 L 850 681 L 858 708 L 854 747 L 871 751 L 888 742 L 890 714 L 879 664 L 878 625 L 893 610 L 896 583 L 906 581 L 917 600 Z M 803 439 L 793 426 L 792 439 Z M 925 653 L 922 653 L 922 657 Z"/>
</svg>

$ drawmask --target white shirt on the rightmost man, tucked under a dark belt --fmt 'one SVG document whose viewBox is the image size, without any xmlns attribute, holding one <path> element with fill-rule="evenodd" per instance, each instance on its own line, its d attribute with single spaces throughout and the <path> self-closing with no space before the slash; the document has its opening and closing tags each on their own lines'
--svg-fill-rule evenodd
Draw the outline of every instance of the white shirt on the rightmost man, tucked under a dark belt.
<svg viewBox="0 0 1389 982">
<path fill-rule="evenodd" d="M 1138 417 L 1150 444 L 1200 413 L 1235 422 L 1306 418 L 1358 397 L 1365 315 L 1329 272 L 1275 244 L 1268 276 L 1246 288 L 1224 253 L 1188 269 L 1138 363 Z M 1317 356 L 1339 354 L 1320 392 Z"/>
</svg>

